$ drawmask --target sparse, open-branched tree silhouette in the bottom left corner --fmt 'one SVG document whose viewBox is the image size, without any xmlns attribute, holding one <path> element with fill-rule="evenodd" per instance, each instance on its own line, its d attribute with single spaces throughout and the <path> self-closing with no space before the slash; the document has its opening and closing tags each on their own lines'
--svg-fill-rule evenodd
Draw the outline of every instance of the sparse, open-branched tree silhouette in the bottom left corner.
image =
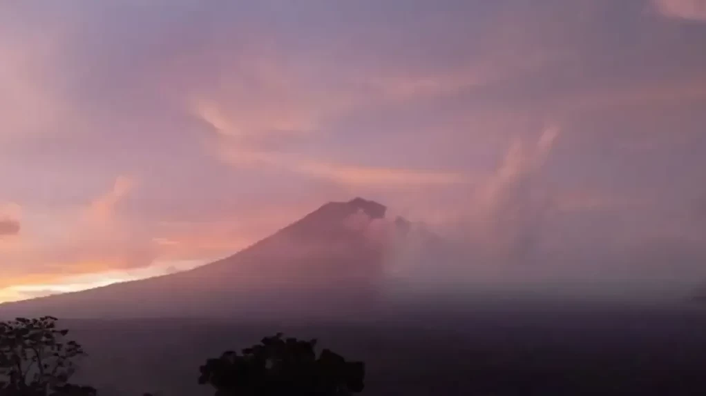
<svg viewBox="0 0 706 396">
<path fill-rule="evenodd" d="M 0 322 L 0 395 L 95 395 L 93 388 L 68 383 L 84 352 L 78 342 L 64 340 L 68 330 L 56 328 L 56 321 Z"/>
</svg>

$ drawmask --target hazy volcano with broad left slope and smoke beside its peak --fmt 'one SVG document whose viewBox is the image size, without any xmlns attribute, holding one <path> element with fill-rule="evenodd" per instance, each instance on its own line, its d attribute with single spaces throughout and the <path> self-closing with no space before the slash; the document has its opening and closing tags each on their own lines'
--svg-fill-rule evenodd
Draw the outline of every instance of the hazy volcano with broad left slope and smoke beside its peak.
<svg viewBox="0 0 706 396">
<path fill-rule="evenodd" d="M 366 311 L 376 304 L 390 236 L 409 232 L 409 222 L 390 221 L 385 212 L 385 206 L 361 198 L 330 202 L 220 261 L 156 278 L 1 304 L 0 317 L 281 317 Z"/>
</svg>

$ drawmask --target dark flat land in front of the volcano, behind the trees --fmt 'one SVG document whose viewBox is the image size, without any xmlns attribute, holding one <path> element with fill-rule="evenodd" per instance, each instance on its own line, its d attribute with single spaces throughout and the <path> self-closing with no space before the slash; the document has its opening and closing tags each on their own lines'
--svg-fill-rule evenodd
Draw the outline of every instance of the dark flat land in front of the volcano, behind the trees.
<svg viewBox="0 0 706 396">
<path fill-rule="evenodd" d="M 101 395 L 213 395 L 198 366 L 282 331 L 367 364 L 363 395 L 706 395 L 706 314 L 496 307 L 391 311 L 354 323 L 64 321 L 77 382 Z"/>
</svg>

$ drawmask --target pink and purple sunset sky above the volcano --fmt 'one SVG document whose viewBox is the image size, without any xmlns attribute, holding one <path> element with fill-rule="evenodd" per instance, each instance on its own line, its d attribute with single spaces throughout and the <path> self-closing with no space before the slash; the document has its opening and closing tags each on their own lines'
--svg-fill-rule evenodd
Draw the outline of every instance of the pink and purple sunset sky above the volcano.
<svg viewBox="0 0 706 396">
<path fill-rule="evenodd" d="M 496 264 L 706 283 L 705 42 L 705 0 L 0 1 L 0 302 L 357 196 Z"/>
</svg>

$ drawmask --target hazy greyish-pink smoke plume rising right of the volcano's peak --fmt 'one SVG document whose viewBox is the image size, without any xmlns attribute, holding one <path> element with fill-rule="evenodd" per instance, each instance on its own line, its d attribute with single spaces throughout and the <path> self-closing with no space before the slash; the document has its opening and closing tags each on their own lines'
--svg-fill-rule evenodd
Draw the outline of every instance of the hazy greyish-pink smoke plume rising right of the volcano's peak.
<svg viewBox="0 0 706 396">
<path fill-rule="evenodd" d="M 605 222 L 599 211 L 561 211 L 559 194 L 543 174 L 560 139 L 551 126 L 534 140 L 514 140 L 457 219 L 433 230 L 441 242 L 430 243 L 421 225 L 396 241 L 388 276 L 407 290 L 435 293 L 639 302 L 679 301 L 706 279 L 706 271 L 688 267 L 684 254 L 645 254 L 667 252 L 664 243 L 650 249 L 611 240 L 618 233 L 606 224 L 619 221 Z"/>
</svg>

